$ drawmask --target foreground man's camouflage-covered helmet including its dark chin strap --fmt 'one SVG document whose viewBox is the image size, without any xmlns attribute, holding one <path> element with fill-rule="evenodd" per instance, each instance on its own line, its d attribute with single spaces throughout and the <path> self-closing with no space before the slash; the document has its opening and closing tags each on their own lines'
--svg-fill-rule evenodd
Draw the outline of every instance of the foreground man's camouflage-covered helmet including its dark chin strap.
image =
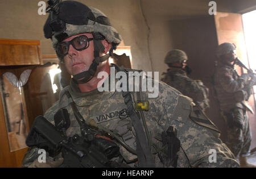
<svg viewBox="0 0 256 179">
<path fill-rule="evenodd" d="M 121 36 L 112 27 L 106 15 L 93 7 L 88 7 L 76 1 L 61 2 L 61 0 L 49 0 L 48 5 L 46 11 L 50 15 L 46 20 L 46 24 L 44 24 L 44 36 L 47 39 L 52 39 L 55 50 L 57 43 L 70 36 L 92 33 L 94 44 L 93 63 L 87 71 L 75 74 L 72 78 L 76 83 L 79 81 L 88 82 L 96 73 L 97 66 L 101 62 L 108 60 L 109 57 L 109 54 L 100 56 L 100 52 L 104 52 L 105 49 L 101 40 L 106 39 L 112 44 L 110 49 L 110 55 L 112 55 L 113 49 L 121 43 Z M 58 55 L 58 57 L 61 61 L 64 55 Z"/>
</svg>

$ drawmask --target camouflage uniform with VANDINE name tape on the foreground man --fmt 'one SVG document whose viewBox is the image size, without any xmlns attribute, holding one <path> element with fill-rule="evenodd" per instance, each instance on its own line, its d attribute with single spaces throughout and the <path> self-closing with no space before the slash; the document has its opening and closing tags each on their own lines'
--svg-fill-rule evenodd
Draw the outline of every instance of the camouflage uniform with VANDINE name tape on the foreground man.
<svg viewBox="0 0 256 179">
<path fill-rule="evenodd" d="M 65 90 L 68 90 L 72 95 L 72 101 L 76 103 L 85 120 L 94 120 L 97 125 L 115 132 L 115 134 L 122 137 L 126 144 L 136 149 L 135 131 L 130 117 L 126 116 L 121 119 L 119 116 L 123 109 L 127 109 L 121 92 L 99 92 L 96 89 L 81 93 L 73 81 L 71 81 L 70 86 L 64 88 Z M 53 116 L 57 110 L 60 108 L 67 109 L 71 120 L 71 127 L 68 128 L 67 135 L 80 135 L 79 123 L 77 123 L 71 105 L 69 105 L 71 98 L 68 98 L 64 91 L 61 92 L 59 101 L 44 116 L 54 123 Z M 137 101 L 137 95 L 135 94 L 137 92 L 132 93 L 133 100 Z M 156 167 L 163 167 L 157 155 L 159 149 L 162 148 L 162 142 L 156 136 L 159 136 L 162 131 L 166 131 L 169 126 L 176 127 L 177 138 L 181 143 L 181 148 L 177 153 L 179 156 L 177 167 L 239 167 L 232 152 L 218 138 L 219 131 L 216 126 L 203 113 L 200 113 L 200 110 L 194 106 L 190 98 L 181 95 L 179 91 L 162 82 L 159 82 L 158 97 L 147 98 L 147 94 L 148 92 L 142 92 L 141 100 L 148 100 L 150 103 L 150 109 L 143 111 L 143 113 L 151 135 L 151 153 L 153 153 Z M 122 145 L 119 145 L 119 147 L 123 163 L 129 163 L 129 161 L 137 158 Z M 209 153 L 210 149 L 217 152 L 216 163 L 209 162 L 209 157 L 212 155 L 212 153 Z M 31 156 L 32 154 L 28 152 L 27 155 Z M 28 165 L 31 165 L 31 163 L 25 157 L 23 166 Z M 38 163 L 34 165 L 40 166 Z M 131 167 L 137 166 L 136 163 L 129 165 Z"/>
</svg>

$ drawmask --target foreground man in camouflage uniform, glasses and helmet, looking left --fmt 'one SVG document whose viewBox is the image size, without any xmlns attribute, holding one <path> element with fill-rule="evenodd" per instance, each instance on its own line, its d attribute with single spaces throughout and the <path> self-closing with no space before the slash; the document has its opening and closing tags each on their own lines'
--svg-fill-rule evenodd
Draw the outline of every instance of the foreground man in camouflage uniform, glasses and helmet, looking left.
<svg viewBox="0 0 256 179">
<path fill-rule="evenodd" d="M 68 5 L 69 12 L 73 13 L 74 9 L 86 9 L 87 6 L 75 1 L 65 1 L 62 3 L 63 7 Z M 79 5 L 73 7 L 73 5 Z M 106 20 L 106 16 L 101 11 L 89 8 L 96 18 Z M 60 16 L 62 8 L 60 8 Z M 79 10 L 76 10 L 78 12 Z M 90 14 L 90 17 L 92 16 Z M 72 14 L 68 16 L 72 18 Z M 103 18 L 102 18 L 103 17 Z M 76 14 L 76 18 L 81 18 L 80 14 Z M 65 19 L 65 16 L 62 18 Z M 81 27 L 81 24 L 69 24 L 66 22 L 65 33 L 66 39 L 58 41 L 55 40 L 53 34 L 53 47 L 56 48 L 56 52 L 61 60 L 64 60 L 65 66 L 69 73 L 73 75 L 71 84 L 63 89 L 60 93 L 59 101 L 55 103 L 47 112 L 44 117 L 54 124 L 54 115 L 59 109 L 67 109 L 69 118 L 71 120 L 71 126 L 67 130 L 67 136 L 73 136 L 74 134 L 81 135 L 80 124 L 74 115 L 74 111 L 71 107 L 72 103 L 75 103 L 79 113 L 85 119 L 85 121 L 91 126 L 97 126 L 98 128 L 104 128 L 109 131 L 110 134 L 117 136 L 113 140 L 119 145 L 119 155 L 112 160 L 115 160 L 119 166 L 122 164 L 129 165 L 131 167 L 237 167 L 239 166 L 237 161 L 234 160 L 232 152 L 226 147 L 224 143 L 218 138 L 220 132 L 216 126 L 210 120 L 201 113 L 200 109 L 196 107 L 190 98 L 181 95 L 181 93 L 171 86 L 163 84 L 162 82 L 155 81 L 159 85 L 159 95 L 156 98 L 148 98 L 148 91 L 145 92 L 130 92 L 132 102 L 148 101 L 149 109 L 147 111 L 138 111 L 142 122 L 136 124 L 131 118 L 133 115 L 127 115 L 129 111 L 129 103 L 124 102 L 123 92 L 118 91 L 103 91 L 100 92 L 97 89 L 98 72 L 108 72 L 110 65 L 108 59 L 105 62 L 99 63 L 97 71 L 93 74 L 93 77 L 89 77 L 86 82 L 84 79 L 86 76 L 75 78 L 77 74 L 87 72 L 88 69 L 84 69 L 84 65 L 88 62 L 92 63 L 93 59 L 97 59 L 97 54 L 93 53 L 95 45 L 93 43 L 88 44 L 88 48 L 79 51 L 79 48 L 75 45 L 77 36 L 86 35 L 88 38 L 93 38 L 91 33 L 100 32 L 104 35 L 105 39 L 101 40 L 101 44 L 104 45 L 104 49 L 101 51 L 101 57 L 104 58 L 110 47 L 117 45 L 121 42 L 121 37 L 110 25 L 104 23 L 102 20 L 94 22 L 88 20 L 88 24 Z M 82 20 L 82 19 L 81 19 Z M 86 20 L 84 20 L 85 22 Z M 49 21 L 48 21 L 49 22 Z M 88 26 L 88 27 L 87 27 Z M 46 27 L 46 26 L 45 26 Z M 82 30 L 84 29 L 84 30 Z M 59 35 L 59 33 L 55 34 Z M 74 44 L 68 44 L 70 47 L 65 47 L 67 41 L 73 40 Z M 64 42 L 64 43 L 63 43 Z M 78 43 L 80 44 L 80 43 Z M 61 48 L 63 45 L 65 48 Z M 77 49 L 75 49 L 75 46 Z M 60 49 L 57 49 L 60 48 Z M 61 51 L 65 54 L 61 56 Z M 62 53 L 62 54 L 63 54 Z M 66 54 L 67 53 L 67 54 Z M 119 70 L 118 67 L 115 69 Z M 134 72 L 133 69 L 121 69 L 123 72 Z M 108 79 L 108 78 L 107 78 Z M 137 84 L 138 85 L 138 84 Z M 67 95 L 69 94 L 69 95 Z M 133 105 L 132 105 L 133 106 Z M 127 109 L 128 107 L 128 109 Z M 129 114 L 129 113 L 128 113 Z M 138 122 L 137 120 L 137 122 Z M 145 121 L 145 123 L 143 122 Z M 143 125 L 142 125 L 143 123 Z M 141 137 L 137 135 L 136 126 L 143 126 L 144 133 L 146 134 L 146 147 L 150 153 L 141 156 L 138 152 L 139 145 L 137 138 Z M 168 151 L 168 145 L 163 143 L 166 136 L 167 129 L 172 126 L 176 128 L 175 138 L 175 157 L 176 163 L 170 163 L 170 151 Z M 145 135 L 145 134 L 143 134 Z M 180 143 L 180 145 L 179 145 Z M 177 144 L 177 145 L 176 145 Z M 216 160 L 209 160 L 212 153 L 210 150 L 216 151 Z M 23 159 L 24 167 L 56 167 L 61 164 L 63 159 L 61 155 L 56 159 L 48 156 L 46 163 L 39 163 L 37 160 L 38 148 L 33 147 L 26 153 Z M 144 158 L 147 163 L 142 165 Z M 152 161 L 151 161 L 152 159 Z"/>
</svg>

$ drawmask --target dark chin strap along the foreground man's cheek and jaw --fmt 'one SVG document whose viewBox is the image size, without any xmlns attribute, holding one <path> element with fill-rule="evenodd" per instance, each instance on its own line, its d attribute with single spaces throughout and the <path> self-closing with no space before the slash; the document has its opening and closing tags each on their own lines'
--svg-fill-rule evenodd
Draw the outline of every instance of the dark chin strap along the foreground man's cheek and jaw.
<svg viewBox="0 0 256 179">
<path fill-rule="evenodd" d="M 92 79 L 94 74 L 96 73 L 98 65 L 109 59 L 109 54 L 106 54 L 104 56 L 100 57 L 100 52 L 104 52 L 105 48 L 104 45 L 102 45 L 101 40 L 104 38 L 99 33 L 93 33 L 93 44 L 94 44 L 94 60 L 92 64 L 90 65 L 89 70 L 85 72 L 81 72 L 78 74 L 75 74 L 72 78 L 73 81 L 75 81 L 76 84 L 86 83 Z"/>
</svg>

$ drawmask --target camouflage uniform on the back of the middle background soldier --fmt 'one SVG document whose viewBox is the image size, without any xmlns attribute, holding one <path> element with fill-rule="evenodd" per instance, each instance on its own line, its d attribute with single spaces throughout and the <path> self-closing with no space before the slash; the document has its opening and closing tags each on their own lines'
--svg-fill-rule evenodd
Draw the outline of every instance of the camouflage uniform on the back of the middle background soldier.
<svg viewBox="0 0 256 179">
<path fill-rule="evenodd" d="M 179 90 L 183 95 L 193 99 L 204 111 L 209 107 L 209 89 L 200 80 L 192 80 L 187 73 L 180 68 L 168 69 L 162 78 L 163 82 Z"/>
</svg>

